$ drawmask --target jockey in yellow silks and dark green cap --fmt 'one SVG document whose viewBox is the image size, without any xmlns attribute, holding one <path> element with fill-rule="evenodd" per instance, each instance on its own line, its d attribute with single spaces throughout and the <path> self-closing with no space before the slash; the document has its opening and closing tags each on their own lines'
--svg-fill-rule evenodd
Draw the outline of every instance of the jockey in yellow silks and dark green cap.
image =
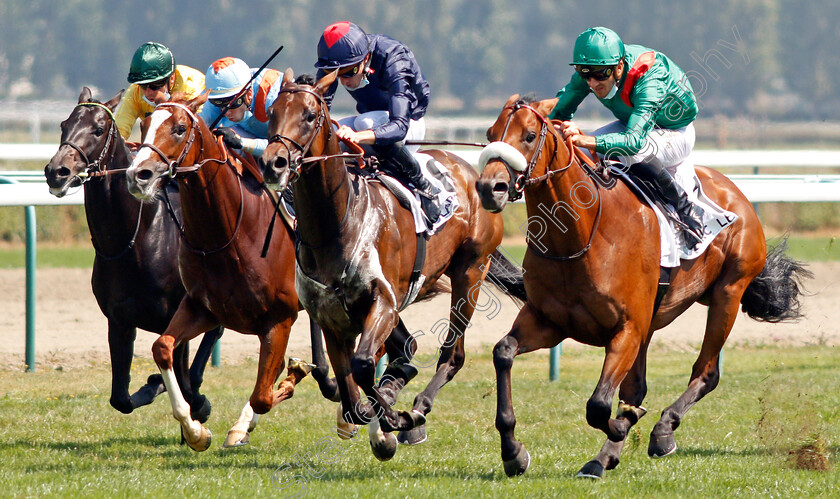
<svg viewBox="0 0 840 499">
<path fill-rule="evenodd" d="M 204 75 L 189 66 L 175 65 L 172 52 L 156 42 L 146 42 L 134 52 L 128 70 L 128 87 L 114 118 L 127 139 L 137 119 L 152 114 L 155 106 L 182 92 L 188 99 L 204 91 Z"/>
</svg>

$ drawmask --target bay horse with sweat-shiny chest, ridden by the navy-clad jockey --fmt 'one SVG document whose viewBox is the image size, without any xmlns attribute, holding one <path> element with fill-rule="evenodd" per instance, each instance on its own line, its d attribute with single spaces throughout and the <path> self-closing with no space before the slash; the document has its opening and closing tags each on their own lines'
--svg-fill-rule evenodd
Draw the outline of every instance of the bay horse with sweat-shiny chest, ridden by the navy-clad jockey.
<svg viewBox="0 0 840 499">
<path fill-rule="evenodd" d="M 449 171 L 460 207 L 428 239 L 421 271 L 425 279 L 416 296 L 437 291 L 438 279 L 446 274 L 452 308 L 434 376 L 415 398 L 411 412 L 394 410 L 391 405 L 399 390 L 417 369 L 409 364 L 410 355 L 391 358 L 376 386 L 375 359 L 394 328 L 405 330 L 399 311 L 407 306 L 421 251 L 414 219 L 380 182 L 345 167 L 323 99 L 336 72 L 314 86 L 294 84 L 292 77 L 287 70 L 269 110 L 271 138 L 262 155 L 264 171 L 267 181 L 276 180 L 280 188 L 293 179 L 298 294 L 324 330 L 345 419 L 370 423 L 374 455 L 387 460 L 396 452 L 397 438 L 391 432 L 400 430 L 403 443 L 425 440 L 423 425 L 435 396 L 464 364 L 464 330 L 481 283 L 488 271 L 494 273 L 494 264 L 502 263 L 494 254 L 502 239 L 502 219 L 481 210 L 473 188 L 477 176 L 469 164 L 443 151 L 427 151 Z M 269 179 L 271 172 L 274 179 Z M 416 347 L 412 339 L 408 343 Z M 360 398 L 359 387 L 367 401 Z"/>
</svg>

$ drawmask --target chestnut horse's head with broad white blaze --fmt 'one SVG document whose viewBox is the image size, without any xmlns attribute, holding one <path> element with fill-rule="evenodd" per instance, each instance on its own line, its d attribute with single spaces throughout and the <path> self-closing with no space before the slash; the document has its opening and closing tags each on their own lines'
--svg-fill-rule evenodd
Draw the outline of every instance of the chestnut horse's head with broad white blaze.
<svg viewBox="0 0 840 499">
<path fill-rule="evenodd" d="M 208 95 L 205 92 L 192 100 L 174 95 L 143 120 L 142 144 L 126 171 L 128 190 L 135 197 L 150 199 L 177 173 L 195 171 L 193 165 L 205 149 L 218 147 L 196 114 Z"/>
</svg>

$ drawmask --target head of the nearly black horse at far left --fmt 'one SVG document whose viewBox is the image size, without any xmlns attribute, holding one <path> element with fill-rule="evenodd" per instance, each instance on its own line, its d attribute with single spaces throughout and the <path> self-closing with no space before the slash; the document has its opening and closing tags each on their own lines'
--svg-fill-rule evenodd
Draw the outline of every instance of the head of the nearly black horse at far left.
<svg viewBox="0 0 840 499">
<path fill-rule="evenodd" d="M 44 167 L 50 194 L 63 197 L 70 188 L 87 181 L 91 173 L 106 168 L 121 142 L 113 113 L 122 94 L 120 90 L 111 100 L 101 103 L 92 98 L 88 87 L 82 88 L 79 103 L 61 122 L 58 151 Z"/>
</svg>

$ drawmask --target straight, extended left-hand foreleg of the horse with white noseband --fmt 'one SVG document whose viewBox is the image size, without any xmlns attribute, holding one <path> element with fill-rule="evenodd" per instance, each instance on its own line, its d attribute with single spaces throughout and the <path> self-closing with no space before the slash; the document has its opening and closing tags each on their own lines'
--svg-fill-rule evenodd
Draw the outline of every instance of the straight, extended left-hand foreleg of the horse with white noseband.
<svg viewBox="0 0 840 499">
<path fill-rule="evenodd" d="M 531 456 L 522 442 L 516 440 L 516 416 L 513 412 L 510 371 L 513 359 L 522 353 L 541 348 L 551 348 L 563 339 L 553 326 L 540 321 L 530 305 L 526 304 L 510 332 L 493 347 L 493 367 L 496 369 L 496 429 L 502 443 L 502 462 L 507 476 L 525 473 Z"/>
</svg>

